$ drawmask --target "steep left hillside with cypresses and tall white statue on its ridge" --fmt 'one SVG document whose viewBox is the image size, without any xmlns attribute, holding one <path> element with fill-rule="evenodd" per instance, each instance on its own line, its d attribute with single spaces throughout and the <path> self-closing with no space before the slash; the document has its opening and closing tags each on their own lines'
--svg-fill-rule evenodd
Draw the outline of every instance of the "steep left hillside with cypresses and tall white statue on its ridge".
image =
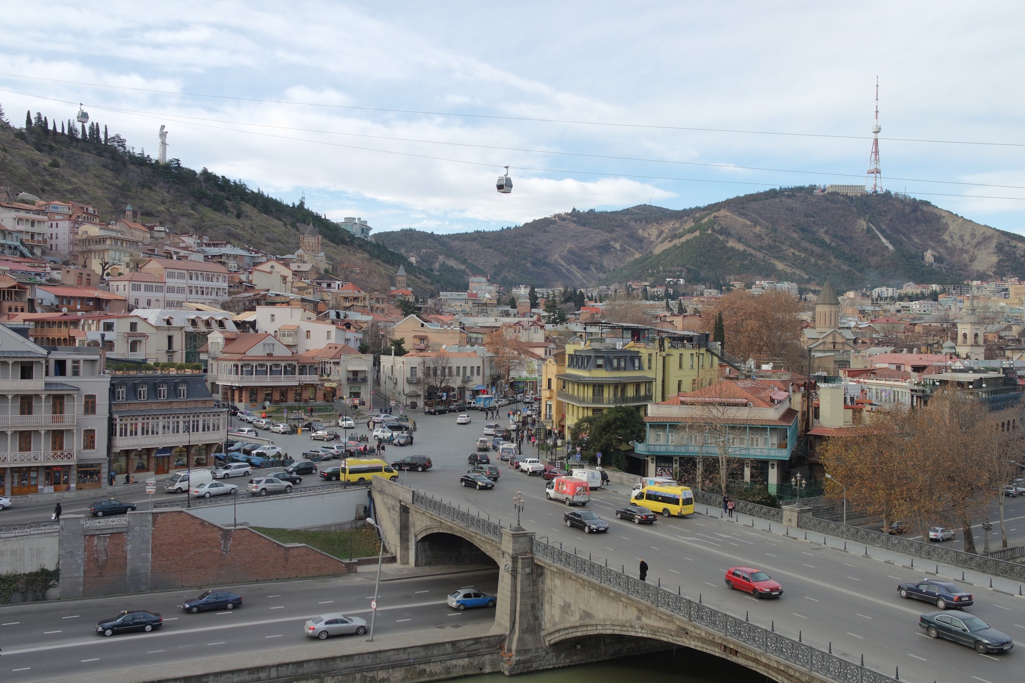
<svg viewBox="0 0 1025 683">
<path fill-rule="evenodd" d="M 36 117 L 42 124 L 42 117 Z M 66 130 L 63 122 L 59 127 Z M 67 130 L 72 129 L 69 121 Z M 130 204 L 142 222 L 273 254 L 295 251 L 300 229 L 312 225 L 324 238 L 334 271 L 368 291 L 387 291 L 400 265 L 418 296 L 466 287 L 464 273 L 415 267 L 397 252 L 355 238 L 301 201 L 286 204 L 205 168 L 187 168 L 176 159 L 157 163 L 120 135 L 100 130 L 90 125 L 88 131 L 70 135 L 42 125 L 0 123 L 0 186 L 12 194 L 89 204 L 104 220 L 121 216 Z"/>
</svg>

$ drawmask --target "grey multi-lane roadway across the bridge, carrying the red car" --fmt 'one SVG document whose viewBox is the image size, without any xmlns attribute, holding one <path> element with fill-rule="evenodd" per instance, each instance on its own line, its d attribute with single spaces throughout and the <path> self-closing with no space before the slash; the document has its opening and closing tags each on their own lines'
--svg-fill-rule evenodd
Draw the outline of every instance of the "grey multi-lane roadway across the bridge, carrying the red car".
<svg viewBox="0 0 1025 683">
<path fill-rule="evenodd" d="M 482 516 L 501 517 L 504 522 L 515 516 L 512 496 L 522 490 L 526 499 L 523 524 L 537 538 L 561 542 L 565 549 L 575 547 L 596 561 L 607 560 L 610 566 L 624 565 L 634 577 L 643 557 L 651 567 L 649 582 L 661 581 L 670 588 L 679 585 L 684 593 L 691 597 L 701 594 L 706 604 L 719 609 L 736 615 L 749 612 L 750 621 L 762 626 L 775 622 L 777 631 L 791 637 L 797 637 L 799 631 L 806 642 L 823 650 L 831 643 L 833 652 L 853 661 L 864 654 L 866 666 L 881 674 L 893 676 L 899 667 L 901 680 L 1025 680 L 1021 649 L 983 655 L 950 641 L 929 639 L 918 628 L 917 617 L 935 607 L 897 596 L 897 583 L 922 578 L 913 570 L 701 513 L 687 519 L 660 518 L 651 526 L 619 521 L 614 510 L 627 503 L 624 486 L 618 486 L 618 492 L 594 493 L 588 509 L 607 519 L 612 528 L 607 535 L 584 535 L 565 526 L 562 516 L 566 508 L 545 500 L 542 480 L 514 472 L 501 463 L 502 475 L 493 490 L 463 488 L 458 476 L 465 471 L 466 456 L 480 433 L 479 425 L 475 429 L 453 425 L 444 431 L 449 447 L 440 453 L 427 452 L 434 439 L 424 438 L 424 453 L 430 455 L 435 467 L 428 472 L 409 472 L 403 477 L 406 485 L 463 509 L 468 506 Z M 426 435 L 422 427 L 417 432 L 420 434 Z M 704 506 L 698 509 L 703 512 Z M 783 584 L 783 597 L 755 600 L 729 591 L 724 573 L 736 564 L 768 571 Z M 1016 639 L 1017 647 L 1025 648 L 1025 602 L 985 588 L 969 590 L 975 594 L 976 604 L 967 611 L 1008 633 Z"/>
</svg>

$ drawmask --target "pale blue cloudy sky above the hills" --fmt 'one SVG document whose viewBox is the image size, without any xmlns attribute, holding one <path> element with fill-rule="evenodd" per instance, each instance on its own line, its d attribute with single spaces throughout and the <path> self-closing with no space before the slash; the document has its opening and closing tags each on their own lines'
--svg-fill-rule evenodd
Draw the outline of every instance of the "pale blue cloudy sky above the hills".
<svg viewBox="0 0 1025 683">
<path fill-rule="evenodd" d="M 878 78 L 883 186 L 1025 233 L 1025 4 L 8 0 L 5 14 L 36 17 L 0 24 L 14 125 L 81 102 L 156 156 L 164 124 L 186 166 L 375 232 L 863 184 Z"/>
</svg>

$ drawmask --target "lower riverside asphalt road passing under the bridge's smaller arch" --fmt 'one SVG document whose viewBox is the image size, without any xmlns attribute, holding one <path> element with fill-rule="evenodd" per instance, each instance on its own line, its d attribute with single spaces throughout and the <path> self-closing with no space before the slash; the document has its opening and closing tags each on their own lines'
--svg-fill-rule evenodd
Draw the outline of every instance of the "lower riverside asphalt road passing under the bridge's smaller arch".
<svg viewBox="0 0 1025 683">
<path fill-rule="evenodd" d="M 245 666 L 246 654 L 280 651 L 290 659 L 337 653 L 337 641 L 366 639 L 339 636 L 320 641 L 302 631 L 317 614 L 343 612 L 370 621 L 375 571 L 334 579 L 315 579 L 232 588 L 244 600 L 232 611 L 189 614 L 179 605 L 200 591 L 169 591 L 146 595 L 92 598 L 6 605 L 0 607 L 0 680 L 83 680 L 107 674 L 109 680 L 127 678 L 140 666 L 162 667 L 165 676 L 181 671 L 181 664 L 211 660 L 210 669 Z M 461 630 L 486 633 L 494 624 L 494 609 L 456 611 L 445 604 L 454 588 L 497 588 L 495 571 L 435 575 L 381 583 L 374 641 L 393 641 L 424 631 Z M 122 609 L 160 612 L 164 626 L 153 633 L 129 633 L 105 638 L 96 622 Z M 452 637 L 457 637 L 453 633 Z M 241 655 L 241 657 L 240 657 Z M 238 658 L 238 659 L 235 659 Z"/>
</svg>

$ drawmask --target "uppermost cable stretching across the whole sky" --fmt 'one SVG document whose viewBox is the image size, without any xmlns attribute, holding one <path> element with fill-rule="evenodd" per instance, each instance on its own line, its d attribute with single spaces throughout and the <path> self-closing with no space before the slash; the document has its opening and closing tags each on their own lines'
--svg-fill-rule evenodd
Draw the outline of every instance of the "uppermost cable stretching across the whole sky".
<svg viewBox="0 0 1025 683">
<path fill-rule="evenodd" d="M 559 123 L 559 124 L 570 124 L 578 126 L 608 126 L 615 128 L 641 128 L 650 130 L 687 130 L 687 131 L 705 132 L 705 133 L 740 133 L 745 135 L 785 135 L 790 137 L 825 137 L 825 138 L 834 138 L 842 140 L 872 139 L 871 137 L 865 135 L 836 135 L 830 133 L 792 133 L 785 131 L 743 130 L 734 128 L 699 128 L 696 126 L 666 126 L 666 125 L 642 124 L 642 123 L 615 123 L 608 121 L 577 121 L 573 119 L 544 119 L 544 118 L 534 118 L 534 117 L 498 116 L 493 114 L 460 114 L 457 112 L 397 110 L 397 109 L 387 109 L 383 106 L 357 106 L 354 104 L 324 104 L 322 102 L 302 102 L 289 99 L 264 99 L 259 97 L 211 95 L 202 92 L 177 92 L 174 90 L 160 90 L 157 88 L 134 88 L 124 85 L 110 85 L 107 83 L 86 83 L 83 81 L 67 81 L 53 78 L 41 78 L 37 76 L 23 76 L 20 74 L 6 74 L 2 72 L 0 72 L 0 76 L 7 76 L 9 78 L 23 78 L 33 81 L 45 81 L 48 83 L 65 83 L 68 85 L 80 85 L 92 88 L 111 88 L 115 90 L 130 90 L 133 92 L 152 92 L 164 95 L 176 95 L 179 97 L 207 97 L 211 99 L 232 99 L 243 102 L 261 102 L 266 104 L 293 104 L 299 106 L 319 106 L 324 109 L 339 109 L 339 110 L 351 110 L 358 112 L 381 112 L 385 114 L 417 114 L 422 116 L 444 116 L 444 117 L 457 117 L 457 118 L 461 117 L 466 119 L 491 119 L 496 121 L 527 121 L 535 123 Z M 884 137 L 879 139 L 888 140 L 891 142 L 925 142 L 933 144 L 978 144 L 984 146 L 1025 147 L 1025 142 L 985 142 L 978 140 L 942 140 L 942 139 L 913 138 L 913 137 Z"/>
</svg>

